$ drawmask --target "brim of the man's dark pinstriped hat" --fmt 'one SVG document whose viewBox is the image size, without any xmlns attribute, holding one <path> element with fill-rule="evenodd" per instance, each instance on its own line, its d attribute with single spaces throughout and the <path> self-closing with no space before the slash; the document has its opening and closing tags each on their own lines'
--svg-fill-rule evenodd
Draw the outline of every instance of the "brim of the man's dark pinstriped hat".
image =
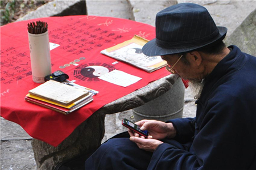
<svg viewBox="0 0 256 170">
<path fill-rule="evenodd" d="M 168 55 L 168 54 L 177 54 L 177 53 L 185 53 L 185 52 L 189 52 L 192 50 L 196 50 L 199 49 L 203 46 L 206 46 L 208 44 L 212 44 L 213 42 L 217 41 L 217 40 L 223 40 L 226 36 L 226 32 L 228 31 L 228 29 L 226 27 L 217 27 L 219 30 L 219 35 L 216 36 L 214 39 L 208 41 L 208 42 L 201 42 L 199 43 L 198 41 L 195 41 L 194 43 L 191 43 L 191 46 L 184 48 L 183 45 L 180 45 L 180 48 L 172 48 L 170 46 L 170 48 L 162 48 L 158 45 L 156 45 L 156 39 L 153 39 L 149 42 L 147 42 L 147 44 L 145 44 L 142 48 L 142 52 L 146 55 L 146 56 L 164 56 L 164 55 Z"/>
</svg>

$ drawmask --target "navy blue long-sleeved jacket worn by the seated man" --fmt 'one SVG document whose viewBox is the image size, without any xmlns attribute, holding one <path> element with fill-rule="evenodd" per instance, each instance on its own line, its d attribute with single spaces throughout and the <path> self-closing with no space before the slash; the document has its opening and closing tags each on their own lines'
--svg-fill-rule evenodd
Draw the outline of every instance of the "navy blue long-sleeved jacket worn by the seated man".
<svg viewBox="0 0 256 170">
<path fill-rule="evenodd" d="M 205 78 L 196 118 L 171 120 L 188 151 L 163 143 L 148 169 L 256 169 L 256 58 L 229 48 Z"/>
</svg>

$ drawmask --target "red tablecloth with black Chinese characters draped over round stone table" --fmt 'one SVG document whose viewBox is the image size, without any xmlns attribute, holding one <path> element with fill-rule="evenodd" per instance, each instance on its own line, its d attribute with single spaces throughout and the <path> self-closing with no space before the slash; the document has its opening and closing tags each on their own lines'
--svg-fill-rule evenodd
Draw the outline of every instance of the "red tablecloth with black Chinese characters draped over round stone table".
<svg viewBox="0 0 256 170">
<path fill-rule="evenodd" d="M 28 90 L 39 86 L 32 81 L 27 34 L 27 24 L 38 20 L 48 23 L 49 41 L 60 45 L 51 50 L 52 71 L 64 71 L 69 80 L 75 79 L 81 86 L 100 91 L 92 103 L 71 114 L 64 115 L 24 101 Z M 2 26 L 1 116 L 22 126 L 31 137 L 52 146 L 59 145 L 105 104 L 168 74 L 164 69 L 147 73 L 123 62 L 113 65 L 115 59 L 100 54 L 101 50 L 129 40 L 134 35 L 151 40 L 155 37 L 155 28 L 131 20 L 99 16 L 40 18 Z M 104 66 L 109 71 L 125 71 L 142 80 L 121 87 L 80 73 L 82 68 L 92 65 Z"/>
</svg>

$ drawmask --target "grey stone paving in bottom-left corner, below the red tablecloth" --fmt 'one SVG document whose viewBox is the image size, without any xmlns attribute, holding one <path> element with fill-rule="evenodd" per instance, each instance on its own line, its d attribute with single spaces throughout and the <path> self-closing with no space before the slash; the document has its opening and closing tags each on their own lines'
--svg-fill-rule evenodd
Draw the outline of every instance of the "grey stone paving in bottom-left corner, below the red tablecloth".
<svg viewBox="0 0 256 170">
<path fill-rule="evenodd" d="M 32 138 L 20 125 L 1 117 L 1 169 L 36 169 Z"/>
</svg>

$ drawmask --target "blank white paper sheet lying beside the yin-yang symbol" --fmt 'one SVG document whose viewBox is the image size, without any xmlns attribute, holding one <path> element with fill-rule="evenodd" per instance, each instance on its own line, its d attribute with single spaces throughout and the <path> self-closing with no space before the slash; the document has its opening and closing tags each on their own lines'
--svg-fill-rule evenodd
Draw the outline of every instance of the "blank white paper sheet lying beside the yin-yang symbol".
<svg viewBox="0 0 256 170">
<path fill-rule="evenodd" d="M 113 84 L 117 84 L 118 86 L 122 86 L 122 87 L 130 86 L 131 84 L 136 83 L 142 79 L 142 78 L 139 78 L 138 76 L 127 74 L 119 70 L 113 70 L 107 74 L 99 76 L 98 78 Z"/>
</svg>

